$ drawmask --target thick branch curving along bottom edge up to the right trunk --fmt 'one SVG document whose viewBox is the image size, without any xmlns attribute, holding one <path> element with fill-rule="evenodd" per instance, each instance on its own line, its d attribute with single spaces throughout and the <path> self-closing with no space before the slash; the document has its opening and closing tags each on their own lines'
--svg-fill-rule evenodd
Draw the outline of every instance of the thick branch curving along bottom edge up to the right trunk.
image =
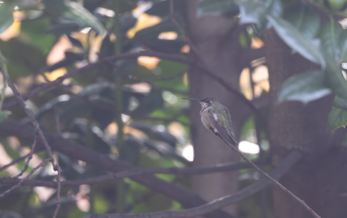
<svg viewBox="0 0 347 218">
<path fill-rule="evenodd" d="M 302 154 L 298 151 L 291 151 L 288 156 L 281 162 L 269 175 L 275 179 L 283 176 L 291 167 L 294 166 L 299 160 L 302 159 Z M 161 211 L 154 213 L 140 213 L 140 214 L 92 214 L 82 218 L 189 218 L 201 216 L 213 210 L 222 208 L 224 206 L 237 203 L 269 186 L 271 181 L 267 178 L 262 178 L 260 181 L 236 192 L 235 194 L 227 195 L 222 198 L 216 199 L 209 203 L 203 204 L 198 207 L 190 208 L 182 211 Z"/>
</svg>

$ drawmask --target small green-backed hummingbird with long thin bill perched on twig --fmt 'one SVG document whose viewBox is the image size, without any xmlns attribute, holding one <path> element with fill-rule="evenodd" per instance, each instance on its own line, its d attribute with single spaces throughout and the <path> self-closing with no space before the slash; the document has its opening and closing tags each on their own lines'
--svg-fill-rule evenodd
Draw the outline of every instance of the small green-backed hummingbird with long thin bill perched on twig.
<svg viewBox="0 0 347 218">
<path fill-rule="evenodd" d="M 201 104 L 201 122 L 207 129 L 219 136 L 227 144 L 238 145 L 234 130 L 231 126 L 231 117 L 227 107 L 218 102 L 217 99 L 207 97 L 201 100 L 194 98 L 182 98 L 198 101 Z M 228 144 L 229 145 L 229 144 Z M 230 146 L 230 145 L 229 145 Z"/>
</svg>

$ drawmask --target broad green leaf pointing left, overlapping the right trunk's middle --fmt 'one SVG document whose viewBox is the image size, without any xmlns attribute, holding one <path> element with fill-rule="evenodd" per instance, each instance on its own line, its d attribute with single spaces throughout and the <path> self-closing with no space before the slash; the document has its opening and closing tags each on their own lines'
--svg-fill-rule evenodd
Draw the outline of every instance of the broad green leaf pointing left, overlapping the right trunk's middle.
<svg viewBox="0 0 347 218">
<path fill-rule="evenodd" d="M 321 70 L 294 75 L 282 83 L 278 101 L 301 101 L 308 103 L 331 93 L 325 83 Z"/>
</svg>

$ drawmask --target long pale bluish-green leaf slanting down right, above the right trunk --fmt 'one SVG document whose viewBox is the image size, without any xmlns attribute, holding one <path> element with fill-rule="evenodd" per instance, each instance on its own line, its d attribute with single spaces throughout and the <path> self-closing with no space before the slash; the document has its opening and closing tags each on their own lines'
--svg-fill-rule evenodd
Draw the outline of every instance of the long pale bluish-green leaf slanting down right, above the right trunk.
<svg viewBox="0 0 347 218">
<path fill-rule="evenodd" d="M 319 51 L 319 40 L 309 40 L 305 38 L 292 24 L 288 21 L 273 16 L 266 16 L 272 27 L 279 35 L 279 37 L 292 49 L 297 51 L 307 60 L 310 60 L 316 64 L 320 64 L 322 68 L 325 68 L 325 60 L 323 55 Z"/>
</svg>

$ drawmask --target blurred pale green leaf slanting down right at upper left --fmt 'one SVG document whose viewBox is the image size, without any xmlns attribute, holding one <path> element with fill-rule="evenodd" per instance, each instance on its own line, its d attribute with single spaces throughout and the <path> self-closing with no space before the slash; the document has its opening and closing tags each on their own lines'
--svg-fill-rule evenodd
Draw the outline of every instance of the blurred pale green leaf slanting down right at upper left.
<svg viewBox="0 0 347 218">
<path fill-rule="evenodd" d="M 65 18 L 76 21 L 81 28 L 91 27 L 100 35 L 105 33 L 105 29 L 99 20 L 82 5 L 74 1 L 68 1 L 65 4 L 67 6 L 67 10 L 63 13 Z"/>
</svg>

